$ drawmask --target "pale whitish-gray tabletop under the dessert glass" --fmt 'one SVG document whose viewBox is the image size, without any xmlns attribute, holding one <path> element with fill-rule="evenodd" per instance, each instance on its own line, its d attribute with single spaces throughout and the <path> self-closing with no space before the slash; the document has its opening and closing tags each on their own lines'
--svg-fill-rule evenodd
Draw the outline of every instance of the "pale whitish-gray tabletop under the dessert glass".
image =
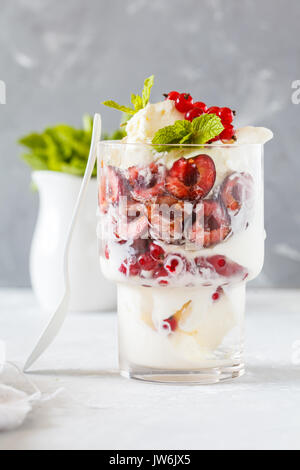
<svg viewBox="0 0 300 470">
<path fill-rule="evenodd" d="M 0 338 L 23 363 L 45 323 L 30 291 L 0 291 Z M 0 449 L 299 449 L 300 290 L 248 292 L 247 374 L 212 386 L 128 381 L 117 372 L 116 315 L 70 314 L 30 378 L 40 405 Z"/>
</svg>

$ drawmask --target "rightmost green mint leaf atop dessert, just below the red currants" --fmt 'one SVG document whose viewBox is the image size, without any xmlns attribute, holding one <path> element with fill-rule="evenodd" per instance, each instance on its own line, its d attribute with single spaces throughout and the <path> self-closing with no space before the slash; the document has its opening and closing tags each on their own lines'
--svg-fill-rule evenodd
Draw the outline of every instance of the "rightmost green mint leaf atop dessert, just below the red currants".
<svg viewBox="0 0 300 470">
<path fill-rule="evenodd" d="M 224 130 L 221 119 L 215 114 L 202 114 L 192 122 L 195 144 L 205 144 Z"/>
</svg>

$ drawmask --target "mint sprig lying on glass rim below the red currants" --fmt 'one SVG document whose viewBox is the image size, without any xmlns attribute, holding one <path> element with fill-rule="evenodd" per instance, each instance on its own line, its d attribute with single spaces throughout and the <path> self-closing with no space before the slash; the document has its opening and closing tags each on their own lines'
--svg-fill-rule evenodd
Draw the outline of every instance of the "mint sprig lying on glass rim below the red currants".
<svg viewBox="0 0 300 470">
<path fill-rule="evenodd" d="M 206 144 L 224 130 L 221 119 L 216 114 L 203 114 L 192 122 L 176 121 L 172 126 L 163 127 L 156 132 L 152 144 L 157 152 L 169 152 L 183 144 Z"/>
</svg>

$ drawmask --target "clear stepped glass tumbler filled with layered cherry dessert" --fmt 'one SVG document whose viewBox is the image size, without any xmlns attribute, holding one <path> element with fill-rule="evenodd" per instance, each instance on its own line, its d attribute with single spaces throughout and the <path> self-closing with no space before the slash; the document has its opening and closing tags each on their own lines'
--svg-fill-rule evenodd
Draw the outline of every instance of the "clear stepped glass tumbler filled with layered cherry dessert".
<svg viewBox="0 0 300 470">
<path fill-rule="evenodd" d="M 121 375 L 194 384 L 243 375 L 246 283 L 264 259 L 263 145 L 103 141 L 98 184 Z"/>
</svg>

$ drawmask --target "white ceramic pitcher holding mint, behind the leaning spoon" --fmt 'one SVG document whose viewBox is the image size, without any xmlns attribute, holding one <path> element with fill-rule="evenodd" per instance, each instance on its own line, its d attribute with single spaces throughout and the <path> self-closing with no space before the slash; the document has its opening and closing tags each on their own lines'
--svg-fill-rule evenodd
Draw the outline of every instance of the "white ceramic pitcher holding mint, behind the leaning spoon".
<svg viewBox="0 0 300 470">
<path fill-rule="evenodd" d="M 39 190 L 40 208 L 30 255 L 31 282 L 42 308 L 53 311 L 64 292 L 63 252 L 82 180 L 53 171 L 37 171 L 32 178 Z M 116 308 L 116 288 L 99 268 L 96 208 L 97 182 L 92 180 L 70 251 L 72 311 Z"/>
</svg>

